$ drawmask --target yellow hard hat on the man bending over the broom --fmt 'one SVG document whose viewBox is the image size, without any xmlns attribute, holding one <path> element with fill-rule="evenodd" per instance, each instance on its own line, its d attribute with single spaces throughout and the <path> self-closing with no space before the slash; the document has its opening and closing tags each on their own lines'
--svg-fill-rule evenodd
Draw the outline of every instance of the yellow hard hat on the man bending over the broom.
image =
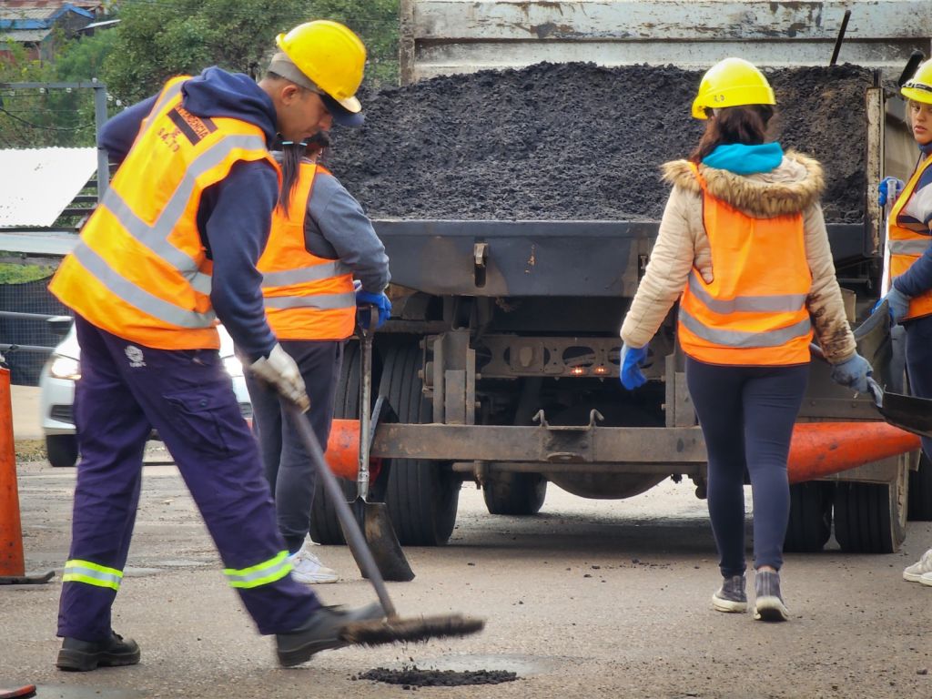
<svg viewBox="0 0 932 699">
<path fill-rule="evenodd" d="M 363 82 L 365 47 L 349 27 L 337 21 L 315 20 L 279 34 L 275 43 L 298 69 L 349 112 L 363 105 L 356 90 Z"/>
</svg>

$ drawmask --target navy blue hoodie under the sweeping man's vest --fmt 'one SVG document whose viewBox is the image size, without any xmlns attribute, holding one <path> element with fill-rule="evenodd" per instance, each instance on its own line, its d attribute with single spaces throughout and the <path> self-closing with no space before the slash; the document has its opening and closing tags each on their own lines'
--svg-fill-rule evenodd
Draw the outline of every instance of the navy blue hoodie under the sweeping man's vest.
<svg viewBox="0 0 932 699">
<path fill-rule="evenodd" d="M 208 68 L 185 82 L 182 94 L 192 114 L 248 121 L 265 132 L 267 145 L 275 139 L 275 106 L 248 75 Z M 126 158 L 157 97 L 133 104 L 104 125 L 99 146 L 112 162 Z M 267 162 L 240 162 L 204 192 L 198 210 L 200 239 L 213 261 L 213 309 L 250 362 L 268 356 L 275 345 L 255 263 L 266 247 L 278 196 L 278 175 Z"/>
</svg>

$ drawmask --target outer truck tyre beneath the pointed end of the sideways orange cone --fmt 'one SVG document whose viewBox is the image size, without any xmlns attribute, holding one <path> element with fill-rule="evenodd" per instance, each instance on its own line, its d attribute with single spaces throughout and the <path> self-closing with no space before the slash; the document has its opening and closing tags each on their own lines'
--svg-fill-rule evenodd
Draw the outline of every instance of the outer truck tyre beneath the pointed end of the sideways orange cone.
<svg viewBox="0 0 932 699">
<path fill-rule="evenodd" d="M 835 485 L 835 539 L 842 551 L 893 554 L 906 538 L 909 464 L 900 459 L 893 483 Z"/>
</svg>

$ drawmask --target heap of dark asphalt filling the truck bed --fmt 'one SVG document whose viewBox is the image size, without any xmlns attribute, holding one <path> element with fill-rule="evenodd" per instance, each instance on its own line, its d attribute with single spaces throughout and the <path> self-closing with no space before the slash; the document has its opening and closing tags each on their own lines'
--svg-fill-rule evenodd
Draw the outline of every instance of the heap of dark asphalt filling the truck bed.
<svg viewBox="0 0 932 699">
<path fill-rule="evenodd" d="M 862 221 L 870 71 L 767 75 L 777 140 L 826 171 L 826 219 Z M 704 128 L 690 116 L 701 77 L 539 63 L 363 93 L 365 125 L 335 129 L 326 163 L 373 218 L 659 220 L 659 166 L 688 157 Z"/>
</svg>

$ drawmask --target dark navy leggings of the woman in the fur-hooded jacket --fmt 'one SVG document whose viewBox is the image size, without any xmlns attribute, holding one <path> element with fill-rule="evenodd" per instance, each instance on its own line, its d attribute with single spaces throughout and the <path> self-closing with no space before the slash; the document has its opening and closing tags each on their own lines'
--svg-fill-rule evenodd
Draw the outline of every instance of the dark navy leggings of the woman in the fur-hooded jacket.
<svg viewBox="0 0 932 699">
<path fill-rule="evenodd" d="M 809 364 L 718 366 L 686 359 L 686 383 L 708 452 L 708 514 L 724 577 L 745 561 L 745 469 L 754 503 L 754 566 L 783 565 L 787 459 Z"/>
</svg>

